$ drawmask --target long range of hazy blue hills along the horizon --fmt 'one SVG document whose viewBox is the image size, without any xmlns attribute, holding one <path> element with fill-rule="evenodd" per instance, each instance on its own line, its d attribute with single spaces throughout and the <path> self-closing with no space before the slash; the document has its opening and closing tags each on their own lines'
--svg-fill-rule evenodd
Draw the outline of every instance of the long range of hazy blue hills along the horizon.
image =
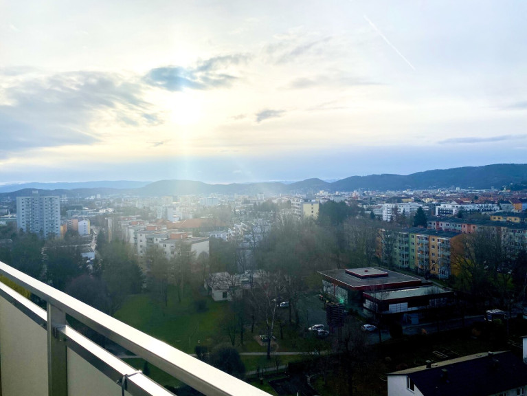
<svg viewBox="0 0 527 396">
<path fill-rule="evenodd" d="M 207 195 L 218 194 L 294 194 L 318 192 L 319 190 L 429 190 L 436 188 L 502 188 L 527 181 L 527 164 L 494 164 L 486 166 L 465 166 L 442 170 L 427 170 L 412 175 L 369 175 L 352 176 L 329 183 L 321 179 L 306 179 L 284 184 L 278 181 L 247 184 L 206 184 L 191 180 L 148 181 L 90 181 L 85 183 L 32 183 L 1 186 L 0 195 L 12 197 L 32 194 L 39 190 L 43 195 L 68 197 L 89 197 L 91 195 Z M 22 188 L 22 189 L 21 189 Z"/>
</svg>

